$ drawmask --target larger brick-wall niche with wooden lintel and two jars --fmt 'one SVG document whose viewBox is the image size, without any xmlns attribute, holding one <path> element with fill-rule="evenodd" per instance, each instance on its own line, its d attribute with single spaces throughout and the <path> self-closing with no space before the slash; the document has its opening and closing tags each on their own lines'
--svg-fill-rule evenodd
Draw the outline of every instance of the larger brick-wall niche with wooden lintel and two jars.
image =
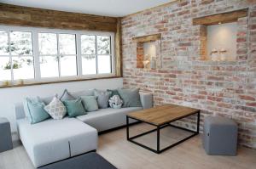
<svg viewBox="0 0 256 169">
<path fill-rule="evenodd" d="M 193 25 L 201 25 L 201 60 L 247 59 L 247 8 L 195 18 Z"/>
</svg>

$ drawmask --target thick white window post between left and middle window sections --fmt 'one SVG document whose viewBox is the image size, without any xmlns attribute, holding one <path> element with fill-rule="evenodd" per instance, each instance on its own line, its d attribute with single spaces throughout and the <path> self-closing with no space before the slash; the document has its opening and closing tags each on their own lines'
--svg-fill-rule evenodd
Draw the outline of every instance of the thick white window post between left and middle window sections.
<svg viewBox="0 0 256 169">
<path fill-rule="evenodd" d="M 39 45 L 38 45 L 38 31 L 32 31 L 32 43 L 33 43 L 35 79 L 36 81 L 39 81 L 41 79 L 41 72 L 40 72 L 40 56 L 39 56 Z"/>
</svg>

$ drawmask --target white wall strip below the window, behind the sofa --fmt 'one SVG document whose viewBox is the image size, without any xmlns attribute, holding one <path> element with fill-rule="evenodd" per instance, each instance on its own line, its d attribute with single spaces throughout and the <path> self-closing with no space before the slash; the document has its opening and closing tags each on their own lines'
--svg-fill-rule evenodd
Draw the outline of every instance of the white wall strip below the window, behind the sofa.
<svg viewBox="0 0 256 169">
<path fill-rule="evenodd" d="M 22 102 L 26 97 L 48 97 L 55 93 L 61 95 L 63 90 L 80 91 L 85 89 L 97 88 L 108 89 L 123 87 L 123 78 L 101 79 L 83 82 L 65 82 L 30 87 L 10 87 L 0 88 L 0 117 L 6 117 L 11 123 L 12 132 L 16 131 L 15 112 L 13 104 Z"/>
</svg>

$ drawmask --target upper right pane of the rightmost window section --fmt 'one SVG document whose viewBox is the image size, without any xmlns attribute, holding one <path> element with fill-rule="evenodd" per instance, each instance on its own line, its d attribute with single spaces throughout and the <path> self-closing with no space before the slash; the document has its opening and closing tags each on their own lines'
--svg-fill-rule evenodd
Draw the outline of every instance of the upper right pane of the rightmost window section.
<svg viewBox="0 0 256 169">
<path fill-rule="evenodd" d="M 97 54 L 110 54 L 110 37 L 97 36 Z"/>
</svg>

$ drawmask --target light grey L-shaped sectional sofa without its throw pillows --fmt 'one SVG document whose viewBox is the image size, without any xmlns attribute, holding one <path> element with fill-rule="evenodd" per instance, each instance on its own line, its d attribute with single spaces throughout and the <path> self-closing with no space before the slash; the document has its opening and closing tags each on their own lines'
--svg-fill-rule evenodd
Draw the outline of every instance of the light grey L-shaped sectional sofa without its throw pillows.
<svg viewBox="0 0 256 169">
<path fill-rule="evenodd" d="M 37 124 L 27 120 L 22 103 L 15 104 L 20 140 L 36 167 L 96 150 L 98 132 L 124 126 L 126 114 L 153 106 L 152 94 L 140 93 L 140 98 L 143 107 L 101 109 L 76 118 L 49 119 Z M 50 101 L 43 100 L 46 104 Z"/>
</svg>

